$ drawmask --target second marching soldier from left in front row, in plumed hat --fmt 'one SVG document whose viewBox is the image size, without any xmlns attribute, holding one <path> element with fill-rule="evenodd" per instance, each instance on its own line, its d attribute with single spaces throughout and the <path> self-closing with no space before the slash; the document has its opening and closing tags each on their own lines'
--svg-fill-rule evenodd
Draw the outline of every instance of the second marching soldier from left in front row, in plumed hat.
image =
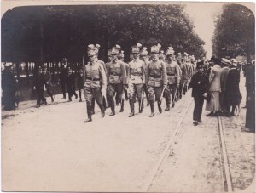
<svg viewBox="0 0 256 193">
<path fill-rule="evenodd" d="M 109 116 L 115 115 L 115 105 L 113 97 L 116 94 L 119 101 L 122 100 L 122 94 L 126 83 L 126 70 L 124 62 L 118 59 L 120 46 L 116 45 L 112 48 L 112 61 L 107 65 L 107 95 L 111 108 Z M 124 104 L 121 105 L 120 112 L 124 111 Z"/>
</svg>

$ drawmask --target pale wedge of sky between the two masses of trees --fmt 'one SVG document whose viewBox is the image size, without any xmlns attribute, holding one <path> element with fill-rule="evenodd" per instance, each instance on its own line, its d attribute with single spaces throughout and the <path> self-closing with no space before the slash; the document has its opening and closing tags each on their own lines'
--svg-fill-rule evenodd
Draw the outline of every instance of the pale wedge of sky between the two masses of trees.
<svg viewBox="0 0 256 193">
<path fill-rule="evenodd" d="M 212 35 L 214 20 L 221 13 L 223 3 L 186 3 L 185 12 L 193 20 L 195 32 L 205 41 L 207 59 L 212 57 Z"/>
</svg>

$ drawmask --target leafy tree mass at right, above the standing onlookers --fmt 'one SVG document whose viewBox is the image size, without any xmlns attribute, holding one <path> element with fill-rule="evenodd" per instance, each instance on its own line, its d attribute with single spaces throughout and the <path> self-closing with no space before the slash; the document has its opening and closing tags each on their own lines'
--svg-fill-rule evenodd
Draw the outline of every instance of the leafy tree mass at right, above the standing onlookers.
<svg viewBox="0 0 256 193">
<path fill-rule="evenodd" d="M 231 58 L 246 56 L 247 61 L 255 57 L 255 17 L 250 9 L 239 4 L 225 4 L 215 25 L 213 54 Z"/>
</svg>

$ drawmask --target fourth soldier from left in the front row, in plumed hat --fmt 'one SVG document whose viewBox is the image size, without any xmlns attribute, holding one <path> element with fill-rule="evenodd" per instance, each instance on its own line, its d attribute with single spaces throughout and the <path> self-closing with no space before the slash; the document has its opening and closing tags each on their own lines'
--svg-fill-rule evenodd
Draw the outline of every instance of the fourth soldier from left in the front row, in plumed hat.
<svg viewBox="0 0 256 193">
<path fill-rule="evenodd" d="M 150 48 L 152 61 L 149 62 L 146 70 L 146 82 L 148 84 L 148 95 L 151 114 L 149 117 L 154 116 L 154 101 L 158 102 L 159 112 L 161 109 L 161 99 L 163 97 L 163 91 L 166 88 L 167 76 L 166 76 L 166 65 L 158 58 L 160 52 L 160 44 L 152 46 Z"/>
</svg>

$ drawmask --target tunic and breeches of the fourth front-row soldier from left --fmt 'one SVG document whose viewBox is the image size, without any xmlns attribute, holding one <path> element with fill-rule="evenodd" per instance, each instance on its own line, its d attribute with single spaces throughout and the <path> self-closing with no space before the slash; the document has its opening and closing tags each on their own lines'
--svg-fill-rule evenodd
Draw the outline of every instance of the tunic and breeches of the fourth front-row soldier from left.
<svg viewBox="0 0 256 193">
<path fill-rule="evenodd" d="M 146 71 L 146 82 L 148 82 L 148 99 L 160 102 L 163 86 L 167 84 L 166 65 L 163 61 L 152 60 L 148 64 Z"/>
</svg>

